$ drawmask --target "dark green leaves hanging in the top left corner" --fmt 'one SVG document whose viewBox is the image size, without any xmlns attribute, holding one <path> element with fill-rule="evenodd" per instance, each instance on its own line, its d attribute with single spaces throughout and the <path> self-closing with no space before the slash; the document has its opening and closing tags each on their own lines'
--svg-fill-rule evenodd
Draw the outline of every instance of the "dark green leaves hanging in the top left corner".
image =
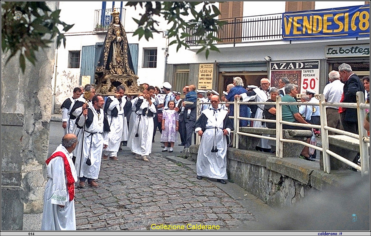
<svg viewBox="0 0 371 236">
<path fill-rule="evenodd" d="M 35 52 L 40 48 L 49 47 L 55 42 L 57 47 L 63 42 L 66 46 L 66 37 L 60 32 L 58 26 L 67 32 L 73 24 L 66 24 L 59 20 L 60 9 L 52 12 L 43 1 L 2 1 L 1 2 L 1 50 L 10 55 L 6 63 L 20 52 L 19 64 L 24 73 L 26 60 L 35 65 L 37 59 Z M 16 19 L 15 11 L 22 12 L 22 17 Z"/>
</svg>

